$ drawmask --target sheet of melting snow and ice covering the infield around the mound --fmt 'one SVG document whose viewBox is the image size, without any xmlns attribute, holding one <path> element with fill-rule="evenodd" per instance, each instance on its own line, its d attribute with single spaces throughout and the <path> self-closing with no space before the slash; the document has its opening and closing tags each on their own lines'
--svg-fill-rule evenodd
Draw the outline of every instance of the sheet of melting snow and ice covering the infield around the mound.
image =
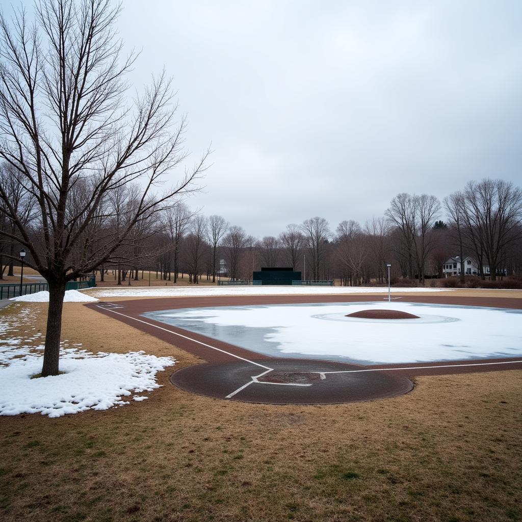
<svg viewBox="0 0 522 522">
<path fill-rule="evenodd" d="M 345 317 L 386 307 L 421 318 Z M 228 306 L 144 315 L 276 357 L 378 364 L 522 356 L 519 310 L 369 302 Z"/>
</svg>

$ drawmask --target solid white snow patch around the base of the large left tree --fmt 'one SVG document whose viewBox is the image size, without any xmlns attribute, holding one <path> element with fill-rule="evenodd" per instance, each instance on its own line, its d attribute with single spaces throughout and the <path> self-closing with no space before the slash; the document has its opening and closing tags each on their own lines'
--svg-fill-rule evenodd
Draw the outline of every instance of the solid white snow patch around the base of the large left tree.
<svg viewBox="0 0 522 522">
<path fill-rule="evenodd" d="M 61 417 L 85 410 L 106 410 L 128 404 L 122 397 L 159 388 L 156 373 L 172 366 L 171 357 L 145 352 L 62 354 L 60 375 L 31 378 L 42 369 L 42 356 L 11 359 L 0 367 L 0 415 L 41 413 Z M 134 397 L 141 401 L 146 397 Z"/>
</svg>

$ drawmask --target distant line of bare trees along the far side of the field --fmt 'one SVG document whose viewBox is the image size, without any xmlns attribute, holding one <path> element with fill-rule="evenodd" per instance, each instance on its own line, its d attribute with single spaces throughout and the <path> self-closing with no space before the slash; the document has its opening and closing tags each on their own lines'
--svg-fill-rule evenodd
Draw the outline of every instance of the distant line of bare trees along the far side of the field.
<svg viewBox="0 0 522 522">
<path fill-rule="evenodd" d="M 400 193 L 383 216 L 365 223 L 345 220 L 332 229 L 326 219 L 313 217 L 262 238 L 222 216 L 192 211 L 182 201 L 156 220 L 154 234 L 145 228 L 147 237 L 136 236 L 132 247 L 120 247 L 117 284 L 125 281 L 128 270 L 137 279 L 140 268 L 172 283 L 187 274 L 197 284 L 219 276 L 250 280 L 261 267 L 286 266 L 301 271 L 303 279 L 337 279 L 357 286 L 385 283 L 388 263 L 394 279 L 423 283 L 442 277 L 443 264 L 455 256 L 460 256 L 462 279 L 466 256 L 477 260 L 483 279 L 495 280 L 504 270 L 519 275 L 522 269 L 522 192 L 502 180 L 469 182 L 442 203 L 433 195 Z M 133 251 L 141 257 L 134 264 L 124 262 L 133 258 Z M 483 266 L 490 267 L 488 274 Z"/>
</svg>

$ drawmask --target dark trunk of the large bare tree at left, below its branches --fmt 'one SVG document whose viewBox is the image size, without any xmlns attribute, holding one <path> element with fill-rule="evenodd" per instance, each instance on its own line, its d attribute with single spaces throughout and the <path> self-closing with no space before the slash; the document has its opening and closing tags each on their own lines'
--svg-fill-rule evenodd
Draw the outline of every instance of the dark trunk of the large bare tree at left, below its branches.
<svg viewBox="0 0 522 522">
<path fill-rule="evenodd" d="M 42 377 L 58 375 L 65 284 L 65 281 L 49 281 L 49 313 L 45 331 Z"/>
</svg>

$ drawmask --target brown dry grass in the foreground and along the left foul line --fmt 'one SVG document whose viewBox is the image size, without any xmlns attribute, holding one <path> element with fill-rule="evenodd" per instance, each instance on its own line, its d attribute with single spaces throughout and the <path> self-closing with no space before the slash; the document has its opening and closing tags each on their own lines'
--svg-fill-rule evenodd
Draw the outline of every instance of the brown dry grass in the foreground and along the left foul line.
<svg viewBox="0 0 522 522">
<path fill-rule="evenodd" d="M 38 312 L 45 304 L 19 304 Z M 192 355 L 66 303 L 90 350 Z M 189 394 L 59 419 L 0 418 L 0 518 L 476 521 L 522 518 L 521 371 L 422 377 L 394 399 L 267 406 Z"/>
</svg>

